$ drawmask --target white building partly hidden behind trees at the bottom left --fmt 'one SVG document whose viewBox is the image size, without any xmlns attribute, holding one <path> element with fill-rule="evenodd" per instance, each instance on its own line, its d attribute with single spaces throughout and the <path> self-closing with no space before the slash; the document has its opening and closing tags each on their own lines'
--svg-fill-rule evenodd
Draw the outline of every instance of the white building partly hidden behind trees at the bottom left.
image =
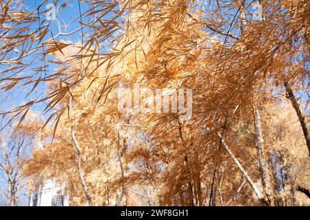
<svg viewBox="0 0 310 220">
<path fill-rule="evenodd" d="M 69 206 L 68 195 L 63 186 L 48 180 L 32 193 L 29 206 Z"/>
</svg>

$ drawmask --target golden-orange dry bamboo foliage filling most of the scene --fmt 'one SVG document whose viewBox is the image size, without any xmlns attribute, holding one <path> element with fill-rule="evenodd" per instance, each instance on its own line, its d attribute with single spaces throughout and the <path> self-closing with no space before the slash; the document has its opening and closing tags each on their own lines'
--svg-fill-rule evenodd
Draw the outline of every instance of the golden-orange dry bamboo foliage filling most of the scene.
<svg viewBox="0 0 310 220">
<path fill-rule="evenodd" d="M 31 190 L 55 179 L 82 206 L 309 206 L 309 1 L 260 1 L 258 20 L 254 1 L 81 2 L 74 43 L 1 3 L 0 88 L 44 89 L 1 115 L 49 114 L 23 170 Z M 34 75 L 18 74 L 39 51 Z M 192 89 L 192 118 L 122 113 L 118 89 L 134 83 Z"/>
</svg>

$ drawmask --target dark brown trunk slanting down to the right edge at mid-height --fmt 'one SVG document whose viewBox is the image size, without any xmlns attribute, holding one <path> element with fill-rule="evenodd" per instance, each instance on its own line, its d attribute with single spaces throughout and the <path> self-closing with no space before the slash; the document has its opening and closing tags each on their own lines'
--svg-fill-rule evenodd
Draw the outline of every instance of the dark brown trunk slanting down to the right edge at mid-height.
<svg viewBox="0 0 310 220">
<path fill-rule="evenodd" d="M 307 124 L 304 121 L 304 115 L 302 114 L 302 111 L 300 111 L 299 104 L 293 94 L 293 91 L 291 90 L 291 87 L 289 86 L 289 83 L 285 81 L 284 85 L 285 85 L 285 88 L 287 89 L 287 98 L 291 100 L 291 104 L 293 105 L 293 108 L 295 109 L 296 114 L 298 116 L 300 125 L 302 126 L 302 132 L 304 133 L 304 139 L 306 140 L 308 151 L 309 151 L 309 156 L 310 156 L 310 135 L 309 135 L 309 131 L 307 128 Z"/>
</svg>

